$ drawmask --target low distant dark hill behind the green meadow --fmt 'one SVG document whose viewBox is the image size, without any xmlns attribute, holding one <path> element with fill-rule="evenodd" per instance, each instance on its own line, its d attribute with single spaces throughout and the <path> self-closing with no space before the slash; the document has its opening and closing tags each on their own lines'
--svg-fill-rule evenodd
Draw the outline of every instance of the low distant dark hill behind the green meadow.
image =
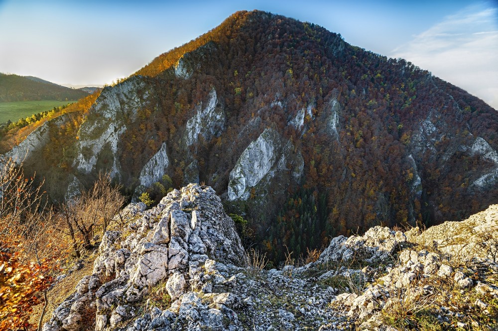
<svg viewBox="0 0 498 331">
<path fill-rule="evenodd" d="M 77 100 L 88 96 L 83 90 L 74 90 L 32 76 L 0 73 L 0 102 L 38 100 Z"/>
</svg>

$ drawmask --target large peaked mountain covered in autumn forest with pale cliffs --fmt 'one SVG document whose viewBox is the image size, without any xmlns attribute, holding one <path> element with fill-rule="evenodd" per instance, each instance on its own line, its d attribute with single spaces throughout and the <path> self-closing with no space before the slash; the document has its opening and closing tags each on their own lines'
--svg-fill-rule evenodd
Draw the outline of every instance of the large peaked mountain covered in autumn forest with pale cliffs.
<svg viewBox="0 0 498 331">
<path fill-rule="evenodd" d="M 237 12 L 95 98 L 4 152 L 55 201 L 100 171 L 135 201 L 210 185 L 275 262 L 498 203 L 496 110 L 312 23 Z"/>
</svg>

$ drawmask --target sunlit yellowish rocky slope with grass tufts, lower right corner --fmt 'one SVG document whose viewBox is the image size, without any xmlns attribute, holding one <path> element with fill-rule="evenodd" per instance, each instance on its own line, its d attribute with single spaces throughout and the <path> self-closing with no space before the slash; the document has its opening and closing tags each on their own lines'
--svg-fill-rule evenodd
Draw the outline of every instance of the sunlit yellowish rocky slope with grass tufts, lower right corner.
<svg viewBox="0 0 498 331">
<path fill-rule="evenodd" d="M 383 272 L 375 266 L 363 269 L 366 283 L 361 291 L 338 295 L 333 306 L 356 320 L 356 330 L 431 320 L 441 330 L 495 330 L 496 313 L 489 320 L 486 308 L 498 299 L 497 226 L 498 205 L 493 205 L 465 221 L 445 222 L 423 232 L 412 228 L 403 234 L 405 248 L 396 258 L 390 263 L 383 260 Z M 365 286 L 367 282 L 371 285 Z"/>
</svg>

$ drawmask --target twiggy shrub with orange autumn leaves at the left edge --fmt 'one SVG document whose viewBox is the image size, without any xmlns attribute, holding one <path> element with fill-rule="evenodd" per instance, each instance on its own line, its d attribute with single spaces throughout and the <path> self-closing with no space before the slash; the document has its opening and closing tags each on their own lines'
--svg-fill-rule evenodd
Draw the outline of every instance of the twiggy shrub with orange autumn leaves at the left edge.
<svg viewBox="0 0 498 331">
<path fill-rule="evenodd" d="M 51 275 L 57 270 L 58 260 L 65 256 L 65 241 L 61 240 L 61 229 L 57 226 L 55 213 L 47 209 L 46 200 L 41 190 L 43 181 L 35 184 L 34 176 L 24 177 L 22 162 L 20 165 L 10 158 L 0 156 L 0 256 L 15 256 L 20 264 L 15 265 L 13 274 L 22 274 L 23 265 L 37 264 L 37 272 L 28 282 L 44 279 L 43 286 L 33 287 L 43 293 L 44 307 L 41 323 L 45 315 L 48 298 L 48 286 L 52 282 Z M 31 283 L 30 283 L 31 284 Z M 27 287 L 26 287 L 27 288 Z M 15 295 L 23 298 L 23 313 L 17 318 L 27 323 L 30 304 L 36 303 L 35 292 L 20 289 Z M 20 310 L 19 310 L 20 311 Z"/>
</svg>

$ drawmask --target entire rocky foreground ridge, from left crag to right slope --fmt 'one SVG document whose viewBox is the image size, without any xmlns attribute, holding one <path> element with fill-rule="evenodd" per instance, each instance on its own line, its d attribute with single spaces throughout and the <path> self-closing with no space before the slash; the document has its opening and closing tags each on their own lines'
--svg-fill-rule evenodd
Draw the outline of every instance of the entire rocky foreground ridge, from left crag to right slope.
<svg viewBox="0 0 498 331">
<path fill-rule="evenodd" d="M 244 250 L 210 187 L 123 214 L 44 331 L 498 328 L 498 205 L 423 232 L 339 236 L 281 270 Z"/>
</svg>

